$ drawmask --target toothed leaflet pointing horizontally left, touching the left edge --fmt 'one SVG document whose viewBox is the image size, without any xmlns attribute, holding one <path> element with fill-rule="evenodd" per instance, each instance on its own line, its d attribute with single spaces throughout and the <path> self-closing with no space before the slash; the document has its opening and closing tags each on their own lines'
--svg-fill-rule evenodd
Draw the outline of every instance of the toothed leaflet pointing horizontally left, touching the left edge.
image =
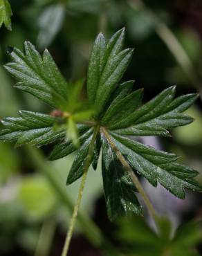
<svg viewBox="0 0 202 256">
<path fill-rule="evenodd" d="M 42 146 L 64 139 L 64 129 L 53 129 L 58 118 L 30 111 L 19 111 L 19 114 L 20 118 L 4 118 L 1 121 L 4 129 L 0 132 L 0 140 L 17 141 L 18 147 L 23 144 Z"/>
</svg>

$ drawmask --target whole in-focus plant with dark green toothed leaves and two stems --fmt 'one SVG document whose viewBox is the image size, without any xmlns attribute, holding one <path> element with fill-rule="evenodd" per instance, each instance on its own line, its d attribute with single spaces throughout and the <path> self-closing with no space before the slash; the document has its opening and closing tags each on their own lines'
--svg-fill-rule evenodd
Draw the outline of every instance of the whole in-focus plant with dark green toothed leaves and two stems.
<svg viewBox="0 0 202 256">
<path fill-rule="evenodd" d="M 154 186 L 160 183 L 181 199 L 185 197 L 184 188 L 200 192 L 202 189 L 194 179 L 198 172 L 176 163 L 178 156 L 127 137 L 170 136 L 167 129 L 193 121 L 183 111 L 198 95 L 174 99 L 176 87 L 172 86 L 141 105 L 143 90 L 133 91 L 133 81 L 120 84 L 133 55 L 132 49 L 122 50 L 124 37 L 122 29 L 108 42 L 102 33 L 95 39 L 86 80 L 88 102 L 78 100 L 82 81 L 67 83 L 47 50 L 41 57 L 26 42 L 25 53 L 17 48 L 8 51 L 14 62 L 5 67 L 19 80 L 17 89 L 57 111 L 52 115 L 20 111 L 19 118 L 4 118 L 0 140 L 17 141 L 16 146 L 55 143 L 49 157 L 52 161 L 77 152 L 66 183 L 69 185 L 81 176 L 82 181 L 62 256 L 68 251 L 89 166 L 92 164 L 96 170 L 101 148 L 104 194 L 111 220 L 132 212 L 142 214 L 136 197 L 136 192 L 140 192 L 158 226 L 156 212 L 136 174 Z"/>
</svg>

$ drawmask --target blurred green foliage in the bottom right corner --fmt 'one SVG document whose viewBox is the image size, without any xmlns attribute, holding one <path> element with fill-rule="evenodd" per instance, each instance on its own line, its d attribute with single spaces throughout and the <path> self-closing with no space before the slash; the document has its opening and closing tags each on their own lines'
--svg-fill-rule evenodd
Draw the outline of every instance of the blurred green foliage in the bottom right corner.
<svg viewBox="0 0 202 256">
<path fill-rule="evenodd" d="M 173 234 L 172 224 L 166 219 L 160 221 L 160 234 L 147 226 L 138 217 L 123 218 L 118 221 L 116 237 L 125 255 L 138 256 L 199 256 L 196 246 L 201 243 L 201 220 L 183 223 Z M 149 248 L 149 250 L 148 250 Z"/>
</svg>

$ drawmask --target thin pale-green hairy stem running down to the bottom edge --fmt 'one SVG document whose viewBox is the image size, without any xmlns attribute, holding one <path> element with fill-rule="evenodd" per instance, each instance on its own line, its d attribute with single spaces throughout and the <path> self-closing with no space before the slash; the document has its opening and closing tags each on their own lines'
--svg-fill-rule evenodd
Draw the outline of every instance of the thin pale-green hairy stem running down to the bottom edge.
<svg viewBox="0 0 202 256">
<path fill-rule="evenodd" d="M 86 183 L 87 172 L 88 172 L 89 167 L 91 165 L 94 143 L 95 143 L 95 139 L 98 135 L 98 131 L 99 131 L 99 127 L 95 127 L 94 132 L 93 132 L 93 138 L 92 138 L 91 143 L 89 145 L 89 153 L 86 156 L 86 161 L 85 161 L 85 164 L 84 164 L 84 174 L 82 176 L 82 181 L 81 181 L 81 184 L 80 184 L 80 190 L 79 190 L 79 194 L 78 194 L 78 197 L 77 197 L 77 203 L 75 204 L 75 208 L 73 210 L 73 215 L 72 215 L 72 218 L 71 218 L 71 221 L 70 221 L 70 226 L 69 226 L 69 229 L 68 229 L 68 232 L 67 232 L 67 235 L 66 235 L 64 248 L 62 250 L 62 256 L 66 256 L 67 253 L 68 253 L 68 248 L 69 248 L 69 245 L 70 245 L 71 237 L 73 235 L 73 229 L 74 229 L 74 226 L 75 226 L 75 220 L 76 220 L 76 217 L 77 217 L 78 210 L 80 208 L 80 203 L 82 201 L 82 195 L 83 195 L 84 186 L 85 186 L 85 183 Z"/>
</svg>

